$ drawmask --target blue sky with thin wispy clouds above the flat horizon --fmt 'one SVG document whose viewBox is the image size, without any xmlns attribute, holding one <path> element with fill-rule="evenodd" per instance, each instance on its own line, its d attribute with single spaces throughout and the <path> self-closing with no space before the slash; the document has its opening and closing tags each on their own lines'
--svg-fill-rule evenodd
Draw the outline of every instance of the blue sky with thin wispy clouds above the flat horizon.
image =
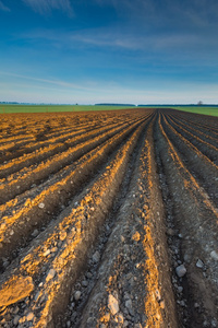
<svg viewBox="0 0 218 328">
<path fill-rule="evenodd" d="M 0 0 L 0 102 L 218 104 L 217 0 Z"/>
</svg>

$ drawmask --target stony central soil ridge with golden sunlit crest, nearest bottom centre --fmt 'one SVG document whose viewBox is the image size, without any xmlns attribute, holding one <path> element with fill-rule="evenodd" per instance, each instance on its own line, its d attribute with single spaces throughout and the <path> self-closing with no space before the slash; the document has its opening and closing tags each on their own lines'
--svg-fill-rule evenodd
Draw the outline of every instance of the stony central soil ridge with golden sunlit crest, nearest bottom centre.
<svg viewBox="0 0 218 328">
<path fill-rule="evenodd" d="M 75 300 L 75 285 L 69 311 L 56 327 L 178 327 L 152 132 L 153 125 L 135 155 L 90 295 L 85 303 L 83 283 L 92 269 L 77 283 L 81 300 Z"/>
</svg>

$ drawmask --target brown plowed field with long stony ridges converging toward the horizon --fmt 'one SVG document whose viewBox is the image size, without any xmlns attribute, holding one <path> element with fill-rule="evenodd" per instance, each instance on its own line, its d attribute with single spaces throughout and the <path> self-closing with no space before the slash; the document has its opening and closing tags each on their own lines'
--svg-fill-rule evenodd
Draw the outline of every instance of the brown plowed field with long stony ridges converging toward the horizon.
<svg viewBox="0 0 218 328">
<path fill-rule="evenodd" d="M 0 327 L 218 327 L 218 118 L 0 116 Z"/>
</svg>

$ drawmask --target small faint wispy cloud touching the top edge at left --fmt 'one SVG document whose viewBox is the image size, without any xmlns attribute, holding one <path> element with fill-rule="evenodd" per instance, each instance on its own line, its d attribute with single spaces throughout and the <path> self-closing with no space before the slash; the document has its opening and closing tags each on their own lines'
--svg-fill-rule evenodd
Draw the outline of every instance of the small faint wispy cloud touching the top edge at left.
<svg viewBox="0 0 218 328">
<path fill-rule="evenodd" d="M 73 15 L 70 0 L 23 0 L 23 2 L 41 15 L 46 15 L 52 10 L 61 10 L 70 16 Z"/>
</svg>

